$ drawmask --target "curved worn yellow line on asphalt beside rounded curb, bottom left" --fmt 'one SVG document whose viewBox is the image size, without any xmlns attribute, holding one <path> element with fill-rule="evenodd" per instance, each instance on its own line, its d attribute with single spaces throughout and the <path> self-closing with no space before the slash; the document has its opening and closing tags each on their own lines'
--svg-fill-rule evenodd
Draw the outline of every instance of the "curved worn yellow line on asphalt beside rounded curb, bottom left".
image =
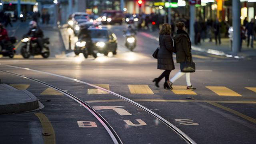
<svg viewBox="0 0 256 144">
<path fill-rule="evenodd" d="M 40 120 L 43 133 L 50 134 L 49 136 L 44 135 L 44 144 L 55 144 L 55 132 L 49 119 L 41 112 L 34 113 Z"/>
</svg>

